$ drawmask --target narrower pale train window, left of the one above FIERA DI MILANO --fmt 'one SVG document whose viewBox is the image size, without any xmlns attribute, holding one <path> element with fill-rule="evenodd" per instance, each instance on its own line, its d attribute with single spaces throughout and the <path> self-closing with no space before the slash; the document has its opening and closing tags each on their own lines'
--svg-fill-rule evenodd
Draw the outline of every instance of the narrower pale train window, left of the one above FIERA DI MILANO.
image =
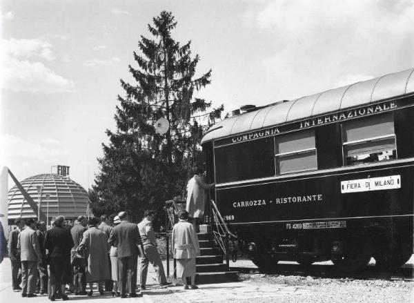
<svg viewBox="0 0 414 303">
<path fill-rule="evenodd" d="M 277 174 L 317 169 L 315 131 L 275 137 Z"/>
</svg>

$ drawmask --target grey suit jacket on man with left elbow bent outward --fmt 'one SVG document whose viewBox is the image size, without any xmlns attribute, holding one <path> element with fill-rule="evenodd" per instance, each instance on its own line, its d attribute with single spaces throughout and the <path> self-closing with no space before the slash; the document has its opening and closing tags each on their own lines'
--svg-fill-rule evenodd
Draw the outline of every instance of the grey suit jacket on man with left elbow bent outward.
<svg viewBox="0 0 414 303">
<path fill-rule="evenodd" d="M 117 246 L 118 257 L 137 257 L 138 245 L 142 245 L 137 224 L 121 222 L 112 228 L 108 243 Z"/>
</svg>

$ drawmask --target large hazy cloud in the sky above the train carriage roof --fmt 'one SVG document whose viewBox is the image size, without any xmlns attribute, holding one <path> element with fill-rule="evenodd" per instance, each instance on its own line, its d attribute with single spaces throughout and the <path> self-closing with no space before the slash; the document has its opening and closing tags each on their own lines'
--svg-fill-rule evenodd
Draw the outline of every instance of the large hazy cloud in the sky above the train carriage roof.
<svg viewBox="0 0 414 303">
<path fill-rule="evenodd" d="M 258 1 L 244 21 L 264 37 L 266 86 L 301 97 L 414 65 L 412 1 Z M 349 81 L 349 82 L 346 82 Z"/>
</svg>

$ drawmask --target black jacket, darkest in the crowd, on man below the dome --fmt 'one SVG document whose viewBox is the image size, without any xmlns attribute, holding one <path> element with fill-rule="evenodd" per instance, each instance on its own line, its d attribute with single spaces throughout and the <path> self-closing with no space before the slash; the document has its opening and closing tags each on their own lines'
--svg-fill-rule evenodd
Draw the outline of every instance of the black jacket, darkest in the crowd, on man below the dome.
<svg viewBox="0 0 414 303">
<path fill-rule="evenodd" d="M 70 231 L 66 228 L 55 226 L 46 232 L 45 248 L 50 257 L 61 257 L 70 260 L 70 250 L 74 243 Z"/>
</svg>

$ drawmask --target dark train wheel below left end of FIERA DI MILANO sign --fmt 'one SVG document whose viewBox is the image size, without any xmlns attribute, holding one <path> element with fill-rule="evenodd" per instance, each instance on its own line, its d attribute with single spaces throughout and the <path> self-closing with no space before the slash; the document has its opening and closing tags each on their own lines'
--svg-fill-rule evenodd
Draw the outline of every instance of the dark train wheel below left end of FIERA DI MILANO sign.
<svg viewBox="0 0 414 303">
<path fill-rule="evenodd" d="M 366 242 L 360 237 L 349 237 L 344 242 L 333 243 L 332 262 L 340 271 L 360 271 L 369 260 L 371 255 L 366 253 Z"/>
</svg>

